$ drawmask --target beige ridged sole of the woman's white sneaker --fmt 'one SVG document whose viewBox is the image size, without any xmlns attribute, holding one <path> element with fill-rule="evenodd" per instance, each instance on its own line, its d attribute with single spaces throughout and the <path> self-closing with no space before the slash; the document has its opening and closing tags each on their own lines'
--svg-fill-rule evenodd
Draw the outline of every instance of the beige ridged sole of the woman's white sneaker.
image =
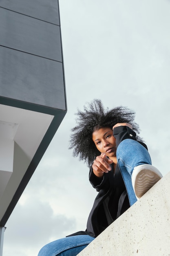
<svg viewBox="0 0 170 256">
<path fill-rule="evenodd" d="M 151 170 L 141 170 L 135 180 L 135 194 L 137 198 L 141 198 L 152 186 L 161 179 L 160 175 Z"/>
</svg>

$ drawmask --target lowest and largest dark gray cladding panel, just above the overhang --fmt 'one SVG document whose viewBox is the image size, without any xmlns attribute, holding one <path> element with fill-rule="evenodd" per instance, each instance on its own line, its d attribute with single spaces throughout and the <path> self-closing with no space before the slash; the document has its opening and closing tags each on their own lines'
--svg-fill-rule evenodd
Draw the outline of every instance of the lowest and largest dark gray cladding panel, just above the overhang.
<svg viewBox="0 0 170 256">
<path fill-rule="evenodd" d="M 0 96 L 66 110 L 62 63 L 0 47 Z"/>
</svg>

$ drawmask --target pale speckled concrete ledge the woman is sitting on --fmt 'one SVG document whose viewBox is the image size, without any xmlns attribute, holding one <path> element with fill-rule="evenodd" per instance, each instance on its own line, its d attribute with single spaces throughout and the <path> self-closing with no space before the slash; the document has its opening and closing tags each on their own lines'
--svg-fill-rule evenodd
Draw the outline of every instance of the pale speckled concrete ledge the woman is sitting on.
<svg viewBox="0 0 170 256">
<path fill-rule="evenodd" d="M 170 255 L 170 173 L 78 255 Z"/>
</svg>

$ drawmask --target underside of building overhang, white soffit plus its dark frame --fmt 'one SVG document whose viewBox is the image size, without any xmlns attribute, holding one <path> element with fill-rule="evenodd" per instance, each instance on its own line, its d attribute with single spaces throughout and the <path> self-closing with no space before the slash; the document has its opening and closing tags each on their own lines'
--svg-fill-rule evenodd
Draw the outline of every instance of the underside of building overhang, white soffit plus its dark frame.
<svg viewBox="0 0 170 256">
<path fill-rule="evenodd" d="M 0 97 L 0 226 L 4 226 L 66 110 Z"/>
</svg>

